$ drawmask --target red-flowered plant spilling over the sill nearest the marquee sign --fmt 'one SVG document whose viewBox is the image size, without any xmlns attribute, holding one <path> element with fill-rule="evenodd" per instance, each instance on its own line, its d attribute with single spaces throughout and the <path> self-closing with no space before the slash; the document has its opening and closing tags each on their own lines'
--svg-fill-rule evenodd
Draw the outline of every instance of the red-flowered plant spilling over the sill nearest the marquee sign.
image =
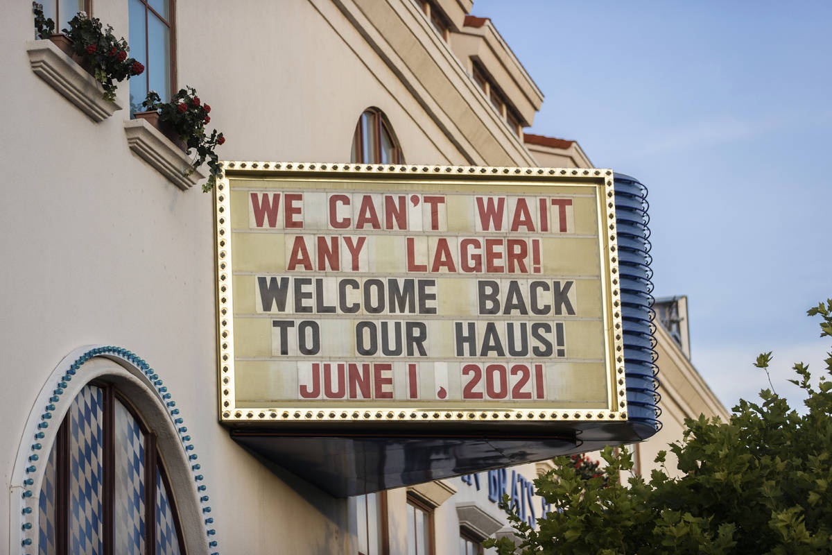
<svg viewBox="0 0 832 555">
<path fill-rule="evenodd" d="M 148 92 L 141 106 L 147 111 L 158 112 L 162 129 L 185 141 L 189 155 L 191 149 L 196 150 L 196 157 L 186 176 L 191 175 L 203 163 L 208 163 L 209 176 L 202 191 L 210 191 L 222 174 L 215 148 L 225 142 L 225 136 L 216 129 L 210 135 L 206 133 L 206 125 L 210 122 L 210 106 L 202 103 L 193 87 L 180 89 L 169 102 L 161 102 L 156 91 Z"/>
</svg>

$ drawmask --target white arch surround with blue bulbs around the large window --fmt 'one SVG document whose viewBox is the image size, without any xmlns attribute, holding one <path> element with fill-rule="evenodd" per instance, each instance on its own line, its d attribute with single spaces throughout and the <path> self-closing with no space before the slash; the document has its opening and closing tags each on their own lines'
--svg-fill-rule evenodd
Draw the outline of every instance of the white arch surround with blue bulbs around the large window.
<svg viewBox="0 0 832 555">
<path fill-rule="evenodd" d="M 176 401 L 173 400 L 172 394 L 168 391 L 166 385 L 160 378 L 155 369 L 151 368 L 144 359 L 139 355 L 132 353 L 128 349 L 116 346 L 99 346 L 77 349 L 69 354 L 58 364 L 57 368 L 52 372 L 49 382 L 41 393 L 38 395 L 37 403 L 39 404 L 32 409 L 32 413 L 27 420 L 26 429 L 22 443 L 17 453 L 17 461 L 15 463 L 15 474 L 12 482 L 12 511 L 16 510 L 17 506 L 21 516 L 19 527 L 15 529 L 12 524 L 10 531 L 10 543 L 12 545 L 12 553 L 14 553 L 14 546 L 17 544 L 17 553 L 31 555 L 37 553 L 38 545 L 38 523 L 37 523 L 37 499 L 40 493 L 40 487 L 43 479 L 44 470 L 46 468 L 49 450 L 55 439 L 57 426 L 60 425 L 61 419 L 55 419 L 53 423 L 53 414 L 65 414 L 67 408 L 62 407 L 62 404 L 68 405 L 72 403 L 74 394 L 67 394 L 69 389 L 73 391 L 80 389 L 84 384 L 87 384 L 91 379 L 97 375 L 85 376 L 84 369 L 92 359 L 98 357 L 109 359 L 116 362 L 126 372 L 132 374 L 137 379 L 140 379 L 146 389 L 152 390 L 156 394 L 156 401 L 161 403 L 164 407 L 166 416 L 171 420 L 173 429 L 176 430 L 177 437 L 180 441 L 181 448 L 190 466 L 191 477 L 193 478 L 193 486 L 196 488 L 196 493 L 199 497 L 199 506 L 201 510 L 201 520 L 205 527 L 205 537 L 207 547 L 211 549 L 217 548 L 217 541 L 215 539 L 216 531 L 212 528 L 214 518 L 210 516 L 211 508 L 208 504 L 209 498 L 206 493 L 207 487 L 203 483 L 203 476 L 200 473 L 201 465 L 197 463 L 198 456 L 195 452 L 195 447 L 191 443 L 191 436 L 187 434 L 187 427 L 185 420 L 180 414 L 180 409 L 176 408 Z M 107 374 L 102 374 L 106 376 Z M 89 379 L 85 379 L 85 378 Z M 71 387 L 72 379 L 78 379 L 82 385 L 78 387 Z M 39 408 L 42 407 L 42 408 Z M 54 424 L 52 429 L 50 426 Z M 14 502 L 17 499 L 17 503 Z M 12 523 L 14 519 L 12 518 Z M 183 523 L 184 527 L 184 523 Z M 183 530 L 185 533 L 185 530 Z M 205 544 L 204 544 L 205 545 Z M 219 555 L 218 552 L 212 552 L 211 555 Z"/>
</svg>

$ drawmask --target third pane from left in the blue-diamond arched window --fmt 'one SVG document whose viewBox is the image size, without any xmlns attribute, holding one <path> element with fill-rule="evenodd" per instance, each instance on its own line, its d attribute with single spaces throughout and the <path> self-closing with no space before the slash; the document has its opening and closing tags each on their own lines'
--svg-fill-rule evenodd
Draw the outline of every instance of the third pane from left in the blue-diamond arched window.
<svg viewBox="0 0 832 555">
<path fill-rule="evenodd" d="M 116 553 L 145 553 L 145 436 L 116 401 L 113 542 Z"/>
</svg>

